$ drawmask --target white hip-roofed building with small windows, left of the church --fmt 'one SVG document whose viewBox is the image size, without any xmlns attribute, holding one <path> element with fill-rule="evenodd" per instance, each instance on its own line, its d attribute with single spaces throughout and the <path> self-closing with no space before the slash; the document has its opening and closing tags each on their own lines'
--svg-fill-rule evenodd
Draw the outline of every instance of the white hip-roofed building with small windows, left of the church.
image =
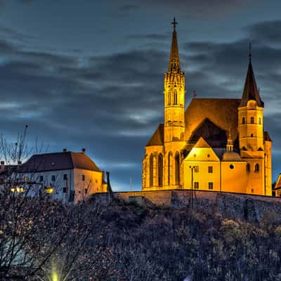
<svg viewBox="0 0 281 281">
<path fill-rule="evenodd" d="M 24 189 L 46 192 L 53 199 L 79 202 L 96 192 L 106 192 L 104 173 L 82 152 L 55 152 L 33 155 L 18 169 Z M 17 191 L 17 190 L 15 190 Z M 22 190 L 21 190 L 22 191 Z"/>
</svg>

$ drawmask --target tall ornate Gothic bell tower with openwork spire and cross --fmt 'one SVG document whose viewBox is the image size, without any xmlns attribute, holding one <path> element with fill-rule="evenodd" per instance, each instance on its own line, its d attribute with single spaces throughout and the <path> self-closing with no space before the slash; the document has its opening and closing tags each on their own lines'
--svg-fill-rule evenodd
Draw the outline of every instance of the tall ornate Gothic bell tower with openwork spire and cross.
<svg viewBox="0 0 281 281">
<path fill-rule="evenodd" d="M 176 24 L 174 18 L 169 71 L 164 78 L 164 143 L 183 141 L 185 133 L 185 75 L 178 55 Z"/>
</svg>

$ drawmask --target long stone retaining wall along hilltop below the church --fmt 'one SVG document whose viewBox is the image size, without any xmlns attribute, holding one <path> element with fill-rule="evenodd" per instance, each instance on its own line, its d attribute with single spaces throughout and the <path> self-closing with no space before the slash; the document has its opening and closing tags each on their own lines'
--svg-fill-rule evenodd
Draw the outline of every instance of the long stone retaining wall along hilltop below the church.
<svg viewBox="0 0 281 281">
<path fill-rule="evenodd" d="M 264 216 L 274 216 L 281 223 L 281 198 L 256 195 L 243 195 L 228 192 L 196 191 L 193 206 L 209 214 L 221 214 L 225 218 L 247 221 L 261 221 Z M 148 207 L 164 206 L 188 208 L 191 206 L 190 190 L 160 190 L 115 192 L 115 196 L 125 201 L 136 200 Z M 99 193 L 95 197 L 106 201 L 107 194 Z"/>
</svg>

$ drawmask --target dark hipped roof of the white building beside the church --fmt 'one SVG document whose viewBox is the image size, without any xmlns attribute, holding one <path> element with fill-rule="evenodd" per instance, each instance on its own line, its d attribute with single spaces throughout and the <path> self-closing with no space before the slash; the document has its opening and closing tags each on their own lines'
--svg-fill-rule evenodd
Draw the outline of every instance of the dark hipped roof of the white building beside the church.
<svg viewBox="0 0 281 281">
<path fill-rule="evenodd" d="M 55 152 L 33 155 L 20 166 L 20 172 L 84 169 L 100 171 L 95 162 L 82 152 Z"/>
</svg>

